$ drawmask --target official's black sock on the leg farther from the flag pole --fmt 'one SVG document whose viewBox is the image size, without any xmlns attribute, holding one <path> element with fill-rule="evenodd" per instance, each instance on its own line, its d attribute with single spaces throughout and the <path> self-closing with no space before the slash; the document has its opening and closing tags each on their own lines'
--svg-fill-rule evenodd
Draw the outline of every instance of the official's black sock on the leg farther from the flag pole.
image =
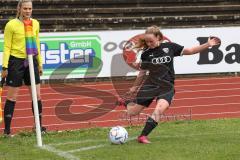
<svg viewBox="0 0 240 160">
<path fill-rule="evenodd" d="M 10 134 L 11 132 L 11 121 L 13 117 L 13 112 L 15 108 L 15 101 L 6 100 L 4 106 L 4 123 L 5 123 L 5 130 L 6 134 Z"/>
</svg>

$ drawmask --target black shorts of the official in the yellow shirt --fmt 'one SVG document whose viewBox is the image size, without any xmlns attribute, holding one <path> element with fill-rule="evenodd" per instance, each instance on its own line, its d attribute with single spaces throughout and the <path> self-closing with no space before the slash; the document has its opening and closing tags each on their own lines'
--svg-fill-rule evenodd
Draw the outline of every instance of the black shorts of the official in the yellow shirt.
<svg viewBox="0 0 240 160">
<path fill-rule="evenodd" d="M 26 59 L 17 58 L 10 56 L 8 62 L 8 75 L 6 83 L 11 87 L 20 87 L 23 84 L 29 86 L 31 85 L 29 67 L 25 65 Z M 38 61 L 37 58 L 33 57 L 34 73 L 35 73 L 35 82 L 36 84 L 40 83 L 40 75 L 38 71 Z"/>
</svg>

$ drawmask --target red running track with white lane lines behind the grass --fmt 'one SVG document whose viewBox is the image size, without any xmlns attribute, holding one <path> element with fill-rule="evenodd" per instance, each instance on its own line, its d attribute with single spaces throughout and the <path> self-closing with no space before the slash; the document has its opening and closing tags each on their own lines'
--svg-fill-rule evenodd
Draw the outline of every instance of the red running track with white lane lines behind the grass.
<svg viewBox="0 0 240 160">
<path fill-rule="evenodd" d="M 89 82 L 42 86 L 43 125 L 48 130 L 130 125 L 144 123 L 154 102 L 139 116 L 127 117 L 115 106 L 132 82 Z M 176 95 L 163 121 L 240 117 L 240 77 L 189 78 L 176 80 Z M 6 99 L 6 87 L 3 102 Z M 12 122 L 13 132 L 34 126 L 28 89 L 22 87 Z M 3 130 L 3 124 L 0 126 Z"/>
</svg>

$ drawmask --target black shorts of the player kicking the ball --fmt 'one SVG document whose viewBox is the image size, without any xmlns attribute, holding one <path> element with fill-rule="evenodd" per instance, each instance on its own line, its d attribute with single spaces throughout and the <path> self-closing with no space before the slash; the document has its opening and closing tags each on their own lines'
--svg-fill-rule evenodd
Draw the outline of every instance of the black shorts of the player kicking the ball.
<svg viewBox="0 0 240 160">
<path fill-rule="evenodd" d="M 156 98 L 156 100 L 164 99 L 170 105 L 174 94 L 174 85 L 170 82 L 163 81 L 159 84 L 154 84 L 146 81 L 139 89 L 134 103 L 148 107 Z"/>
</svg>

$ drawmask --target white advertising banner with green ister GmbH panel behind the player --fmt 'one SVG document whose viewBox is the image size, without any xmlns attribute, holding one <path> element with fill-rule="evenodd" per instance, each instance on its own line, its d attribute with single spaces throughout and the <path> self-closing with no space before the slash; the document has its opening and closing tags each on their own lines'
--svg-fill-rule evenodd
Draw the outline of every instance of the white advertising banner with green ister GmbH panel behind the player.
<svg viewBox="0 0 240 160">
<path fill-rule="evenodd" d="M 162 29 L 172 42 L 192 47 L 209 36 L 221 39 L 220 46 L 201 54 L 175 58 L 176 74 L 239 72 L 240 27 Z M 136 75 L 125 63 L 123 45 L 144 30 L 41 33 L 44 76 L 49 78 L 84 78 Z M 3 35 L 0 35 L 3 54 Z M 0 57 L 2 64 L 2 56 Z"/>
</svg>

